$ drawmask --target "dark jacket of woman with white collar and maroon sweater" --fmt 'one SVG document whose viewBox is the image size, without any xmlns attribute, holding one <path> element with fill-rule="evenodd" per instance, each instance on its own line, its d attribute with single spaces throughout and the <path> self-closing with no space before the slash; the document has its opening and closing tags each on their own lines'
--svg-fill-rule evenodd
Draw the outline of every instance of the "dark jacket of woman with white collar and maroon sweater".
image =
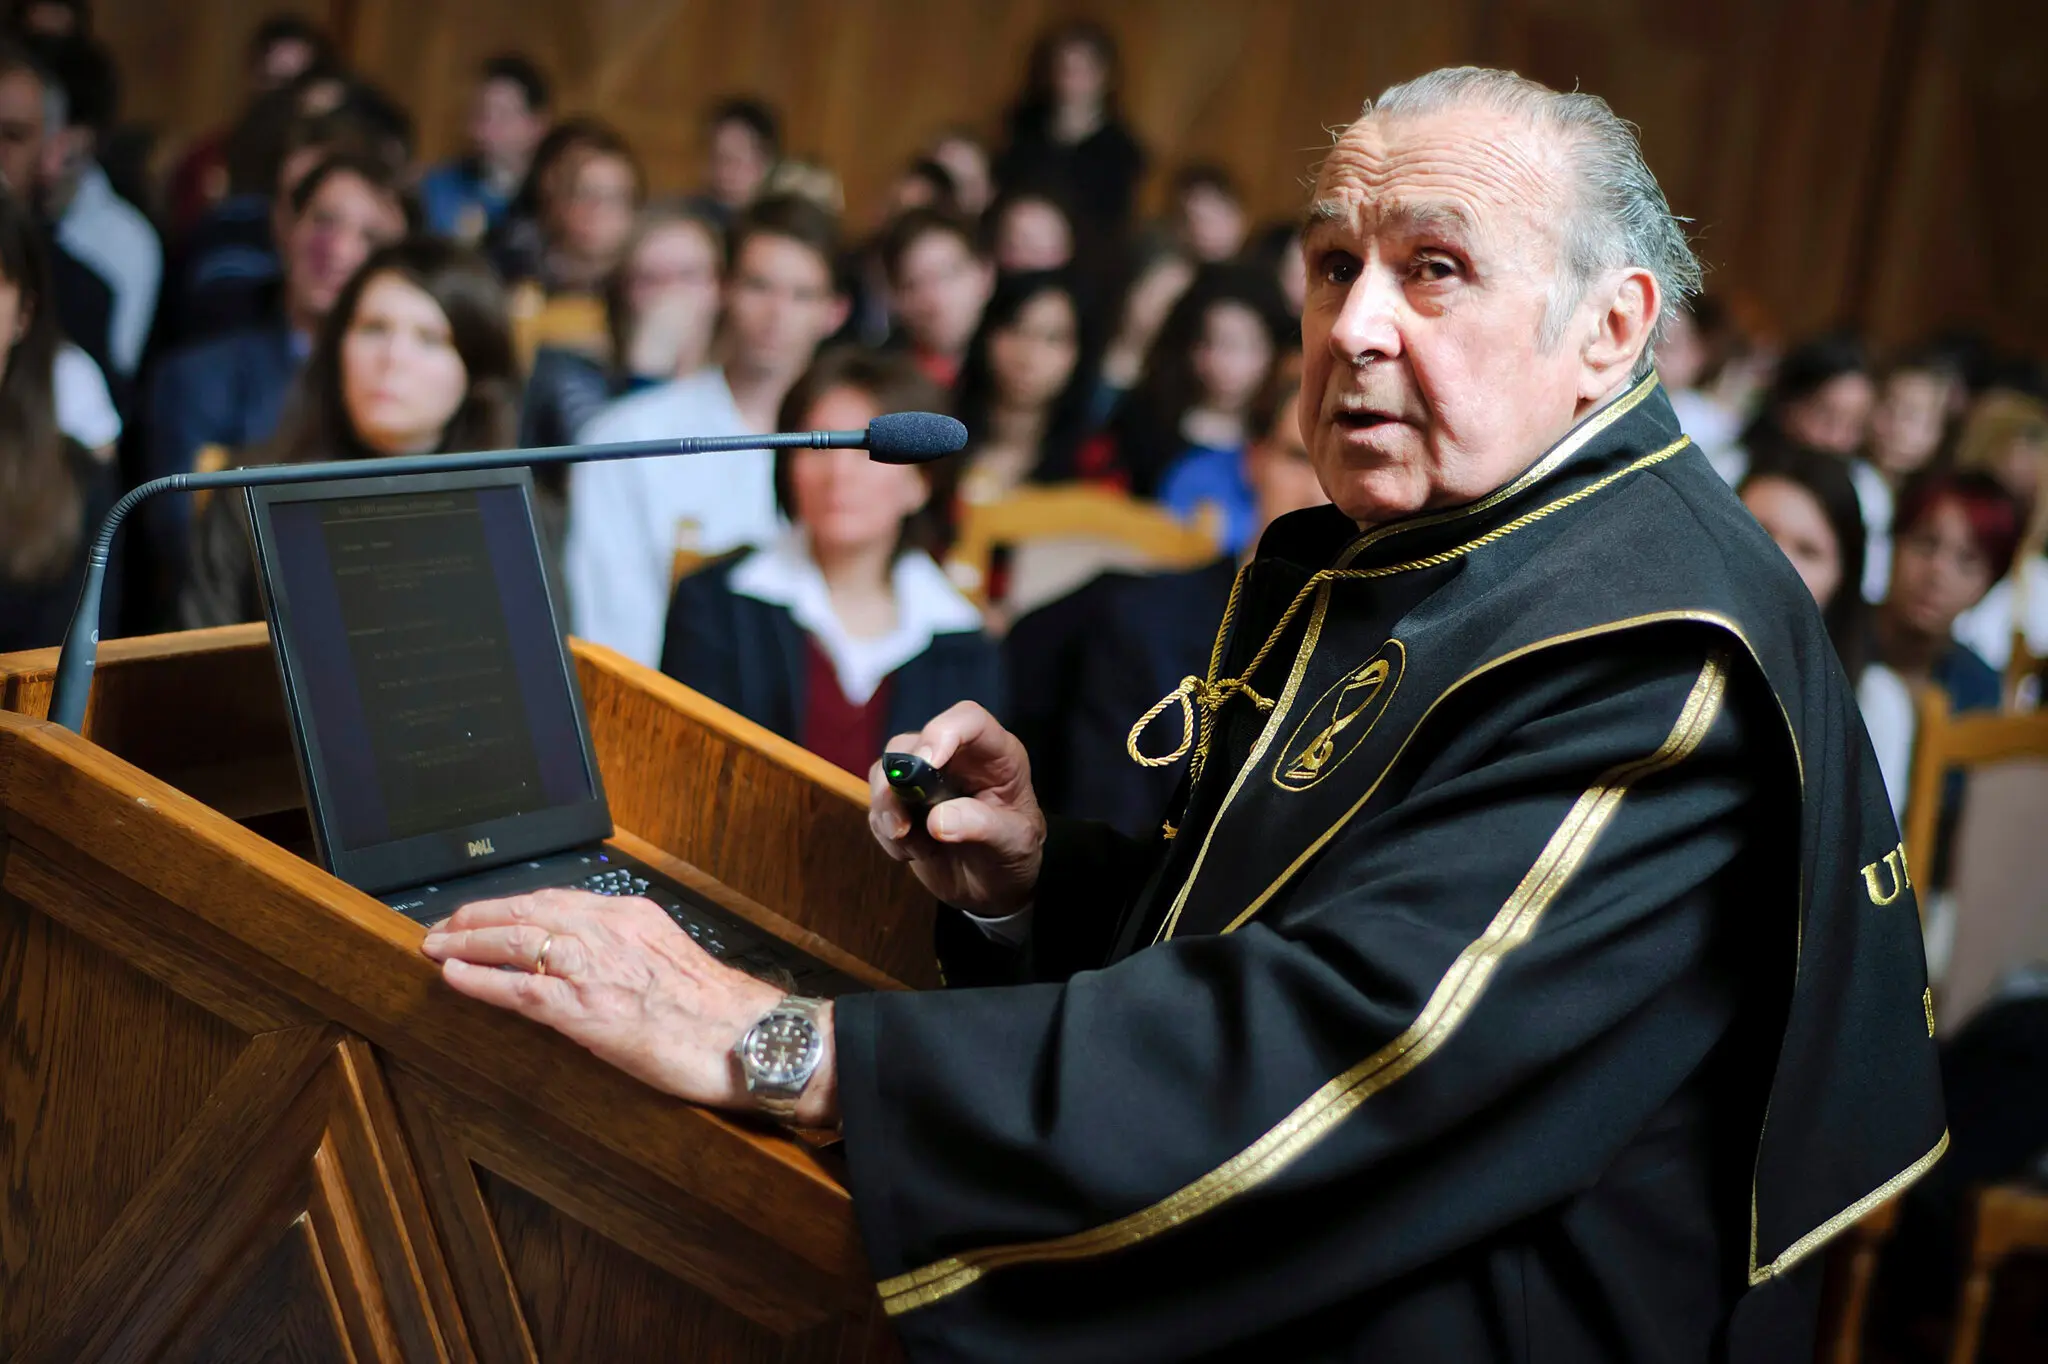
<svg viewBox="0 0 2048 1364">
<path fill-rule="evenodd" d="M 731 590 L 750 551 L 713 559 L 676 584 L 662 639 L 662 672 L 799 741 L 805 719 L 805 633 L 786 606 Z M 934 635 L 889 674 L 887 731 L 915 733 L 961 700 L 1004 713 L 1001 662 L 987 635 Z M 881 754 L 877 754 L 879 758 Z"/>
</svg>

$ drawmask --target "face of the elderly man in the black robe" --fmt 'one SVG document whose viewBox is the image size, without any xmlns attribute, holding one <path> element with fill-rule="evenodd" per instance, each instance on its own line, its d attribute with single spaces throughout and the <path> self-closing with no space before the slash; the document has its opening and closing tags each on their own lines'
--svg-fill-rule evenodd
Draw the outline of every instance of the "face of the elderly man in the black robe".
<svg viewBox="0 0 2048 1364">
<path fill-rule="evenodd" d="M 1300 428 L 1346 516 L 1473 502 L 1616 387 L 1585 365 L 1587 303 L 1542 344 L 1565 184 L 1536 129 L 1464 109 L 1362 119 L 1323 162 Z"/>
</svg>

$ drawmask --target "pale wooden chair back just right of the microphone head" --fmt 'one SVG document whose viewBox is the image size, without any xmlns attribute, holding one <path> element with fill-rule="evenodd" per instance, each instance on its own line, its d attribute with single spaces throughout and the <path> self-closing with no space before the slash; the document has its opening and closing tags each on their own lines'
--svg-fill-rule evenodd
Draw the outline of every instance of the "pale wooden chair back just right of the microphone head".
<svg viewBox="0 0 2048 1364">
<path fill-rule="evenodd" d="M 1217 506 L 1202 506 L 1188 522 L 1155 502 L 1094 483 L 1020 487 L 997 502 L 961 510 L 950 567 L 961 588 L 987 606 L 997 547 L 1034 541 L 1092 541 L 1116 551 L 1116 559 L 1130 567 L 1190 569 L 1223 553 L 1223 514 Z"/>
</svg>

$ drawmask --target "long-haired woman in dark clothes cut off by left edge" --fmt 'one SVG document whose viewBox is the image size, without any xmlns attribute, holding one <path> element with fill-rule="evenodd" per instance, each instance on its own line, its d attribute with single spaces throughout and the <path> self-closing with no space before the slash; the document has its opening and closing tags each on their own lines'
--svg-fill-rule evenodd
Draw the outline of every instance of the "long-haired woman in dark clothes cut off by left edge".
<svg viewBox="0 0 2048 1364">
<path fill-rule="evenodd" d="M 113 449 L 57 426 L 57 311 L 29 209 L 0 188 L 0 653 L 63 639 L 86 549 L 119 494 Z M 121 576 L 109 573 L 113 592 Z M 102 602 L 102 619 L 119 604 Z"/>
</svg>

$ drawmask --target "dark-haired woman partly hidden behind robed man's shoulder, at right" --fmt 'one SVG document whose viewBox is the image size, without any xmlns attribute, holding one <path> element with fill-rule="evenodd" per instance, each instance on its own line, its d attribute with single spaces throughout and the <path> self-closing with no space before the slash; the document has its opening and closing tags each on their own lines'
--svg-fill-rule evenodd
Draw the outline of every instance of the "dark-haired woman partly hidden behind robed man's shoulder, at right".
<svg viewBox="0 0 2048 1364">
<path fill-rule="evenodd" d="M 1870 625 L 1858 584 L 1864 578 L 1864 512 L 1841 459 L 1788 446 L 1743 479 L 1743 506 L 1778 543 L 1812 592 L 1843 670 L 1864 670 Z"/>
</svg>

